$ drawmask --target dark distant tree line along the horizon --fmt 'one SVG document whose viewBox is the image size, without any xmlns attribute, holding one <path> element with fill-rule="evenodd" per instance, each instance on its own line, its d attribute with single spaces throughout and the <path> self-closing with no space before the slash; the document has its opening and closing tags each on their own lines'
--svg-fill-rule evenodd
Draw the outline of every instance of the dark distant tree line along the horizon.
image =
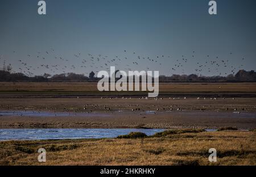
<svg viewBox="0 0 256 177">
<path fill-rule="evenodd" d="M 29 77 L 23 73 L 11 73 L 10 70 L 0 70 L 0 82 L 63 82 L 63 81 L 79 81 L 79 82 L 98 82 L 101 78 L 95 77 L 95 73 L 90 72 L 89 76 L 76 73 L 63 74 L 43 74 Z M 254 70 L 240 70 L 237 74 L 229 74 L 224 76 L 200 76 L 196 74 L 171 76 L 160 75 L 159 82 L 256 82 L 256 72 Z"/>
</svg>

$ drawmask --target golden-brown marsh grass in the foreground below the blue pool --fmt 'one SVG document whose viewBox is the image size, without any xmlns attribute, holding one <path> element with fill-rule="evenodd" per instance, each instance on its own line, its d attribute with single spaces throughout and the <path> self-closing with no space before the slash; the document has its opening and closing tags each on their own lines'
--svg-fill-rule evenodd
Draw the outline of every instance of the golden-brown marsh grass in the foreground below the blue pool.
<svg viewBox="0 0 256 177">
<path fill-rule="evenodd" d="M 0 142 L 0 165 L 256 165 L 255 132 L 169 134 L 159 138 Z M 38 162 L 36 151 L 47 151 Z M 217 150 L 217 162 L 208 150 Z"/>
</svg>

